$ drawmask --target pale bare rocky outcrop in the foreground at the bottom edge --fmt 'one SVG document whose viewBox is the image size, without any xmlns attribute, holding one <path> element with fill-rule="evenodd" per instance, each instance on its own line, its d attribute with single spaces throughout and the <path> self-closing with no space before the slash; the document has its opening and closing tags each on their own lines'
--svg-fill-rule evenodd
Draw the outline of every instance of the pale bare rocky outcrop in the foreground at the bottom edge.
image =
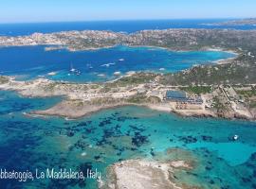
<svg viewBox="0 0 256 189">
<path fill-rule="evenodd" d="M 101 189 L 181 189 L 174 183 L 174 169 L 191 169 L 184 161 L 157 162 L 129 160 L 109 167 L 108 179 Z"/>
</svg>

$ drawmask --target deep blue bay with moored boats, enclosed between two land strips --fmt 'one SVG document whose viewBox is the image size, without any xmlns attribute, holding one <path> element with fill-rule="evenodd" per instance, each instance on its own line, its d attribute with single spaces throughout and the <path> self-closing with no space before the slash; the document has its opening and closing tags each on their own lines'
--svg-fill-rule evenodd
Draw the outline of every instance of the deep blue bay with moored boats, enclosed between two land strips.
<svg viewBox="0 0 256 189">
<path fill-rule="evenodd" d="M 44 46 L 0 48 L 0 75 L 18 79 L 48 77 L 66 81 L 105 81 L 130 71 L 174 73 L 194 64 L 209 64 L 233 54 L 218 51 L 174 52 L 160 48 L 116 46 L 94 51 L 45 51 Z M 120 59 L 122 59 L 120 61 Z M 73 67 L 80 76 L 70 72 Z M 56 72 L 55 76 L 49 76 Z"/>
</svg>

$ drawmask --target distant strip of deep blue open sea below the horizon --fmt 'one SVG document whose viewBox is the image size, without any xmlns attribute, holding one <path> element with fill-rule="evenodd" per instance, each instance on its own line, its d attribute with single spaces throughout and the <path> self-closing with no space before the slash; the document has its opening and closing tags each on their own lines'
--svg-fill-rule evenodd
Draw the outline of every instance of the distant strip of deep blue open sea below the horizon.
<svg viewBox="0 0 256 189">
<path fill-rule="evenodd" d="M 205 26 L 202 24 L 219 23 L 229 19 L 187 19 L 187 20 L 148 20 L 148 21 L 99 21 L 70 23 L 40 23 L 40 24 L 2 24 L 0 35 L 19 36 L 34 32 L 51 33 L 69 30 L 112 30 L 127 33 L 144 29 L 167 28 L 233 28 L 256 29 L 256 26 Z"/>
</svg>

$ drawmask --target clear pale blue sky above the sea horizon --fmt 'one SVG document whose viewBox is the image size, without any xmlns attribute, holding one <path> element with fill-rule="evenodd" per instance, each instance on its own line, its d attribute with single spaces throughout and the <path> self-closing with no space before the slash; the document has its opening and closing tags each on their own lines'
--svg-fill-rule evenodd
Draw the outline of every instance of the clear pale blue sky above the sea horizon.
<svg viewBox="0 0 256 189">
<path fill-rule="evenodd" d="M 0 23 L 248 17 L 255 0 L 0 0 Z"/>
</svg>

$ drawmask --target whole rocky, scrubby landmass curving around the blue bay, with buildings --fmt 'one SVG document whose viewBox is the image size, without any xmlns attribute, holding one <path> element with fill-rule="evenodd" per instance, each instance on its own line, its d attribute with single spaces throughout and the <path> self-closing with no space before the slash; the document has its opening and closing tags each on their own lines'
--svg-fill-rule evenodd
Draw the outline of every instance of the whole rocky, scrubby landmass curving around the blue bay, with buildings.
<svg viewBox="0 0 256 189">
<path fill-rule="evenodd" d="M 105 83 L 68 83 L 44 78 L 16 81 L 0 78 L 2 90 L 38 97 L 64 95 L 64 101 L 32 114 L 78 118 L 91 112 L 139 105 L 186 116 L 255 119 L 256 31 L 220 29 L 144 30 L 134 34 L 111 31 L 70 31 L 0 37 L 0 45 L 54 45 L 46 50 L 96 49 L 143 45 L 174 50 L 217 49 L 237 53 L 219 64 L 194 66 L 175 74 L 133 73 Z M 182 96 L 182 97 L 181 97 Z"/>
</svg>

